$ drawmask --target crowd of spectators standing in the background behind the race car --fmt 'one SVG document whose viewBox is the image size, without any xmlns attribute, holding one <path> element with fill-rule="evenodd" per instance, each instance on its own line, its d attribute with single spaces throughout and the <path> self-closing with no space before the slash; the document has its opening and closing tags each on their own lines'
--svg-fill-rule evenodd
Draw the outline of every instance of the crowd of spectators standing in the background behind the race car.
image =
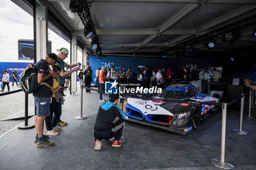
<svg viewBox="0 0 256 170">
<path fill-rule="evenodd" d="M 99 84 L 99 72 L 101 68 L 95 71 L 96 80 L 95 84 Z M 144 66 L 138 70 L 132 70 L 130 67 L 126 70 L 124 66 L 120 70 L 111 66 L 111 69 L 105 69 L 105 77 L 108 81 L 117 81 L 119 83 L 139 83 L 146 88 L 157 85 L 158 87 L 165 88 L 174 82 L 184 81 L 191 82 L 193 80 L 202 80 L 203 82 L 219 82 L 222 78 L 221 72 L 216 68 L 204 68 L 198 72 L 192 67 L 183 67 L 182 72 L 173 72 L 172 69 L 157 69 L 156 71 L 151 66 Z"/>
</svg>

